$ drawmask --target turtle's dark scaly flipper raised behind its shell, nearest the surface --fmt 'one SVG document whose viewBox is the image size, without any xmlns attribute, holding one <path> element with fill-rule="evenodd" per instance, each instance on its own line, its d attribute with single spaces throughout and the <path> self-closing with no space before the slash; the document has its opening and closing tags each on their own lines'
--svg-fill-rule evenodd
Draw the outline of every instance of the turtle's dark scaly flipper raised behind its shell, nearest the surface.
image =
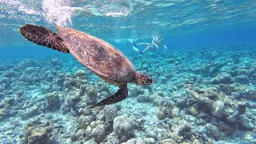
<svg viewBox="0 0 256 144">
<path fill-rule="evenodd" d="M 43 26 L 26 24 L 26 26 L 22 26 L 19 29 L 19 32 L 24 38 L 37 45 L 46 46 L 54 50 L 62 51 L 63 53 L 70 53 L 70 50 L 62 44 L 62 38 Z"/>
</svg>

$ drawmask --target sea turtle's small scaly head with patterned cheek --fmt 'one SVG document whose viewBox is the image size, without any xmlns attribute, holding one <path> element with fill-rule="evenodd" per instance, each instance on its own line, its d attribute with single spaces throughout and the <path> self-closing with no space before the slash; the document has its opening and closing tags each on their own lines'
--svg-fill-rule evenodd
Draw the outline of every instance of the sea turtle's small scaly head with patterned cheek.
<svg viewBox="0 0 256 144">
<path fill-rule="evenodd" d="M 137 85 L 153 85 L 154 80 L 146 74 L 136 72 L 136 78 L 134 80 L 134 83 Z"/>
</svg>

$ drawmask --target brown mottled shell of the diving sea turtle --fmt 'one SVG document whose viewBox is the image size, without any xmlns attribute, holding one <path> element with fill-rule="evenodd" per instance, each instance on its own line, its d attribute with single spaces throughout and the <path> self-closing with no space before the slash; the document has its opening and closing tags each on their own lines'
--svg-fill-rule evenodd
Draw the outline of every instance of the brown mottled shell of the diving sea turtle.
<svg viewBox="0 0 256 144">
<path fill-rule="evenodd" d="M 134 66 L 114 46 L 78 30 L 62 27 L 57 30 L 70 53 L 102 79 L 117 86 L 134 81 Z"/>
</svg>

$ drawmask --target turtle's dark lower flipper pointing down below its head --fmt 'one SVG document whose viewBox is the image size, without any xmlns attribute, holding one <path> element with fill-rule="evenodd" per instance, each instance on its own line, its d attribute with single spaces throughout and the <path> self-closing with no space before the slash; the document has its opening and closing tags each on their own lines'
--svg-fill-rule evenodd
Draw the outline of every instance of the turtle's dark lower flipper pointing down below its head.
<svg viewBox="0 0 256 144">
<path fill-rule="evenodd" d="M 116 102 L 121 102 L 122 100 L 127 98 L 127 96 L 128 96 L 128 89 L 127 89 L 127 84 L 126 84 L 126 85 L 120 86 L 120 89 L 114 95 L 111 95 L 110 97 L 108 97 L 106 99 L 103 99 L 101 102 L 98 102 L 97 104 L 95 104 L 93 106 L 88 106 L 87 109 L 94 108 L 97 106 L 106 106 L 106 105 L 110 105 L 110 104 L 113 104 Z"/>
</svg>

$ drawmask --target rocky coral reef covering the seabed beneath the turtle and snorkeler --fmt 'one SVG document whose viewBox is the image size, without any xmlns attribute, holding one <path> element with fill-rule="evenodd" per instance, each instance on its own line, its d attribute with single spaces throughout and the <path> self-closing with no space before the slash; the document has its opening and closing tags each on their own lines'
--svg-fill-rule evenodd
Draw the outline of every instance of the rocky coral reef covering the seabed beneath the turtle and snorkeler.
<svg viewBox="0 0 256 144">
<path fill-rule="evenodd" d="M 0 61 L 0 142 L 255 143 L 256 53 L 232 48 L 132 55 L 155 84 L 93 110 L 118 87 L 71 57 Z"/>
</svg>

